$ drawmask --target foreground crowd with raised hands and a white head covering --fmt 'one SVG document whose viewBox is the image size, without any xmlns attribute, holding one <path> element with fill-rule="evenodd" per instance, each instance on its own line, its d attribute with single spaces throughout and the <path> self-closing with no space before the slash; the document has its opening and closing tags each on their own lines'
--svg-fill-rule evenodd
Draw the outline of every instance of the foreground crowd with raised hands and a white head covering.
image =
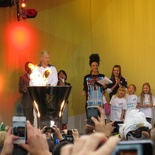
<svg viewBox="0 0 155 155">
<path fill-rule="evenodd" d="M 146 121 L 144 113 L 138 109 L 127 110 L 124 123 L 119 129 L 120 137 L 118 137 L 113 135 L 115 122 L 105 123 L 104 112 L 100 107 L 97 108 L 100 116 L 97 119 L 95 117 L 91 118 L 94 126 L 86 123 L 84 135 L 79 135 L 77 129 L 72 129 L 73 141 L 65 138 L 68 135 L 67 130 L 61 132 L 55 125 L 51 127 L 52 132 L 45 130 L 46 127 L 40 130 L 27 121 L 27 141 L 26 143 L 19 143 L 18 147 L 23 148 L 30 155 L 102 155 L 103 152 L 104 155 L 111 155 L 118 146 L 119 141 L 139 140 L 139 143 L 141 143 L 141 140 L 148 139 L 154 141 L 155 129 Z M 55 143 L 54 137 L 59 139 L 59 143 Z M 3 138 L 1 155 L 12 155 L 15 147 L 13 142 L 18 138 L 18 136 L 12 134 L 12 128 L 8 128 L 5 138 Z M 49 139 L 51 143 L 49 143 Z M 151 149 L 153 148 L 152 145 Z"/>
</svg>

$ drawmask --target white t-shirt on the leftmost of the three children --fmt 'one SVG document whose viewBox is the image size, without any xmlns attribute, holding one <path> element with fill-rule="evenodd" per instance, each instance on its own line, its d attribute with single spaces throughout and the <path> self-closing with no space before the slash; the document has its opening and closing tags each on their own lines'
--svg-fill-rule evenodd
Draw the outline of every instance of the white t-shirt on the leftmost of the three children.
<svg viewBox="0 0 155 155">
<path fill-rule="evenodd" d="M 127 109 L 126 99 L 118 98 L 116 95 L 113 95 L 111 100 L 111 112 L 110 112 L 110 120 L 111 121 L 121 121 L 122 110 Z"/>
</svg>

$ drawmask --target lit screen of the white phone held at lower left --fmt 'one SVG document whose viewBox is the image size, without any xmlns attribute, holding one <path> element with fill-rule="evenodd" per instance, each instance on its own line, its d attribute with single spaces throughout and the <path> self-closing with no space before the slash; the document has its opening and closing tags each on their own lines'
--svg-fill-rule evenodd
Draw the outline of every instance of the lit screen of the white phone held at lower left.
<svg viewBox="0 0 155 155">
<path fill-rule="evenodd" d="M 25 122 L 13 122 L 13 134 L 19 137 L 25 137 Z"/>
</svg>

